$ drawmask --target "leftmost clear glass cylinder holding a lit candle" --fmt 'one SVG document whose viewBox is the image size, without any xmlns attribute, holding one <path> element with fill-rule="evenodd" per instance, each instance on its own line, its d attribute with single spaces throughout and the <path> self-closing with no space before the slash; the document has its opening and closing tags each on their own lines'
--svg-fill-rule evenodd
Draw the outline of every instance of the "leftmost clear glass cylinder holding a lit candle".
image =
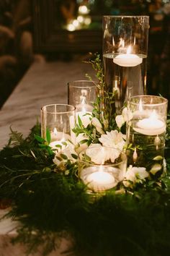
<svg viewBox="0 0 170 256">
<path fill-rule="evenodd" d="M 41 135 L 45 140 L 50 135 L 50 147 L 65 148 L 72 141 L 71 129 L 76 124 L 75 107 L 66 104 L 51 104 L 41 108 Z M 73 141 L 74 142 L 74 141 Z"/>
</svg>

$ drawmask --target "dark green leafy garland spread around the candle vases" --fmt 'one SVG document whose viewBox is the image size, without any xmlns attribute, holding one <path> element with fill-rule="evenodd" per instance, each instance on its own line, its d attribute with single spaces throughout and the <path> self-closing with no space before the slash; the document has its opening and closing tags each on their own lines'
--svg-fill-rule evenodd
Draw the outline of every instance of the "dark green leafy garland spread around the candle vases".
<svg viewBox="0 0 170 256">
<path fill-rule="evenodd" d="M 95 115 L 99 114 L 97 106 L 101 107 L 101 102 L 94 107 Z M 107 129 L 112 130 L 115 121 L 109 125 Z M 104 122 L 102 126 L 105 129 Z M 75 132 L 80 128 L 81 121 Z M 86 186 L 76 175 L 76 163 L 68 160 L 65 166 L 57 166 L 49 141 L 49 135 L 47 141 L 40 137 L 37 124 L 26 139 L 11 130 L 9 143 L 0 152 L 0 199 L 11 200 L 8 216 L 22 223 L 15 241 L 27 244 L 28 253 L 41 244 L 42 255 L 58 249 L 62 237 L 71 240 L 69 252 L 74 255 L 167 255 L 170 116 L 166 133 L 167 173 L 158 181 L 138 184 L 123 192 L 111 189 L 102 196 L 87 194 Z"/>
</svg>

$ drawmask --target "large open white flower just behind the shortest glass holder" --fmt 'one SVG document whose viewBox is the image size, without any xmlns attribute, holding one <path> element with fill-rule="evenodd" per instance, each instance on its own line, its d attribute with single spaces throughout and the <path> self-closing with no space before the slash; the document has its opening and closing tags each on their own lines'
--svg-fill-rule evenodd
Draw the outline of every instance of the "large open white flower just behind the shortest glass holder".
<svg viewBox="0 0 170 256">
<path fill-rule="evenodd" d="M 117 130 L 107 132 L 106 135 L 102 135 L 99 141 L 104 147 L 115 148 L 122 151 L 125 145 L 125 135 L 122 132 L 117 132 Z"/>
</svg>

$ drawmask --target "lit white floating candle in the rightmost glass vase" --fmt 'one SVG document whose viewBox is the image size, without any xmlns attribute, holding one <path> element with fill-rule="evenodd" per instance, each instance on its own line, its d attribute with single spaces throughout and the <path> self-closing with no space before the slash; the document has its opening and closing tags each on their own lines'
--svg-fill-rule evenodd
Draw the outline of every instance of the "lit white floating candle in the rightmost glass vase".
<svg viewBox="0 0 170 256">
<path fill-rule="evenodd" d="M 161 135 L 166 131 L 166 125 L 153 112 L 148 118 L 139 120 L 133 129 L 143 135 Z"/>
</svg>

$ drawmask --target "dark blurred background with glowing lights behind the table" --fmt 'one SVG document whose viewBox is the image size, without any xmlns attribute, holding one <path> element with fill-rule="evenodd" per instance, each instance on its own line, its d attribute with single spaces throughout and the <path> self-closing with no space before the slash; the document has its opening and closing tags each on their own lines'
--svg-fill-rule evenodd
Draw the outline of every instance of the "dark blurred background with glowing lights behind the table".
<svg viewBox="0 0 170 256">
<path fill-rule="evenodd" d="M 0 107 L 33 61 L 102 53 L 102 15 L 149 15 L 148 93 L 170 98 L 169 0 L 0 0 Z"/>
</svg>

